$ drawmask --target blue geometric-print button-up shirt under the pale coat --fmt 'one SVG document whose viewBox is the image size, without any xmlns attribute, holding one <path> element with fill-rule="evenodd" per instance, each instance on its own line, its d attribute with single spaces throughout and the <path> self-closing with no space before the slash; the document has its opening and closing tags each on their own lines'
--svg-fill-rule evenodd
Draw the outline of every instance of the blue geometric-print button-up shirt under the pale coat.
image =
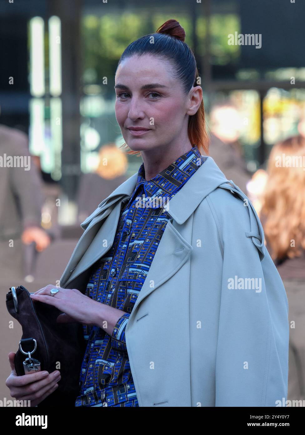
<svg viewBox="0 0 305 435">
<path fill-rule="evenodd" d="M 168 201 L 203 163 L 198 147 L 178 157 L 164 171 L 145 180 L 144 163 L 137 185 L 122 203 L 114 242 L 90 270 L 86 295 L 124 311 L 111 335 L 83 325 L 87 342 L 75 406 L 139 406 L 125 341 L 125 328 L 158 249 L 168 220 Z"/>
</svg>

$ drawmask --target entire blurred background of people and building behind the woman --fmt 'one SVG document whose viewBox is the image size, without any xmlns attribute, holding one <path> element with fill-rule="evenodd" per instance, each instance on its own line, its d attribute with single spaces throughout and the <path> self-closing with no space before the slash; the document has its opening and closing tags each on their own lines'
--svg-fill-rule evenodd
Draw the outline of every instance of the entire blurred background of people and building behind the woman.
<svg viewBox="0 0 305 435">
<path fill-rule="evenodd" d="M 19 325 L 7 329 L 4 296 L 12 285 L 36 291 L 59 280 L 80 223 L 137 172 L 141 158 L 119 149 L 114 74 L 128 44 L 172 18 L 197 60 L 209 155 L 255 205 L 284 281 L 296 325 L 288 398 L 305 400 L 305 2 L 297 0 L 1 1 L 0 154 L 31 157 L 30 170 L 13 177 L 0 167 L 1 397 L 21 336 Z M 231 45 L 230 34 L 261 35 L 261 47 Z M 279 166 L 283 154 L 298 166 L 282 157 Z"/>
</svg>

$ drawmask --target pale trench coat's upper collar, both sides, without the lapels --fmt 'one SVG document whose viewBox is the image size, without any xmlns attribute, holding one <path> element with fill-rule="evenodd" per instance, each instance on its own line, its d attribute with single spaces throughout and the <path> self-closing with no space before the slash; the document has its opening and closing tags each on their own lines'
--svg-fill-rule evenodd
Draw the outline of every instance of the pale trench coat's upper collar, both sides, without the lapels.
<svg viewBox="0 0 305 435">
<path fill-rule="evenodd" d="M 220 184 L 228 182 L 212 157 L 202 156 L 204 164 L 188 179 L 188 182 L 171 198 L 169 214 L 178 224 L 183 224 L 198 207 L 201 201 Z M 127 200 L 134 192 L 138 172 L 118 186 L 80 226 L 86 230 L 107 207 L 119 200 Z M 124 199 L 123 199 L 124 198 Z"/>
</svg>

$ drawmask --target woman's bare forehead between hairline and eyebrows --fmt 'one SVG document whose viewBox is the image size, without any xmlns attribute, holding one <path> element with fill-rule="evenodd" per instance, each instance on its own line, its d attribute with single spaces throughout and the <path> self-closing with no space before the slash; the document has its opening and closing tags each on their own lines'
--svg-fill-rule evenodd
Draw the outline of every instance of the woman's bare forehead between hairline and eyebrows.
<svg viewBox="0 0 305 435">
<path fill-rule="evenodd" d="M 123 83 L 124 80 L 124 83 Z M 149 81 L 147 81 L 149 80 Z M 134 55 L 122 60 L 117 68 L 115 82 L 126 84 L 136 81 L 140 86 L 146 83 L 173 84 L 172 67 L 168 60 L 161 60 L 155 56 L 144 54 Z"/>
</svg>

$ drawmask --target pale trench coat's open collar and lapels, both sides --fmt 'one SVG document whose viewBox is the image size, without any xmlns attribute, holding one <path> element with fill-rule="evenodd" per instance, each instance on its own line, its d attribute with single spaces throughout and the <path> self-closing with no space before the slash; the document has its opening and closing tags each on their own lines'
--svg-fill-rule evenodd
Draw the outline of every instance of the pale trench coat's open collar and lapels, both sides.
<svg viewBox="0 0 305 435">
<path fill-rule="evenodd" d="M 204 164 L 171 198 L 168 210 L 171 218 L 134 308 L 152 291 L 170 279 L 191 256 L 192 246 L 187 240 L 191 240 L 192 222 L 188 218 L 202 199 L 225 181 L 228 180 L 214 160 L 204 156 Z M 88 276 L 84 272 L 111 248 L 120 217 L 121 202 L 131 197 L 136 183 L 137 174 L 134 174 L 102 201 L 94 213 L 81 224 L 85 231 L 60 279 L 61 287 L 68 287 L 69 284 L 70 286 L 73 284 L 80 290 L 85 287 Z M 107 241 L 106 246 L 104 246 L 105 241 Z"/>
</svg>

